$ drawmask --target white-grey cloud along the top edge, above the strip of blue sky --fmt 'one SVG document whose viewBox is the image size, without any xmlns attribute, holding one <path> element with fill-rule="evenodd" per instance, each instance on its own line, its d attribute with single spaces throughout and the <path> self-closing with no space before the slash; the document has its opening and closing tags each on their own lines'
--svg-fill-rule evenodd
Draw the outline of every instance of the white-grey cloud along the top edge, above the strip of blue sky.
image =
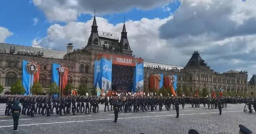
<svg viewBox="0 0 256 134">
<path fill-rule="evenodd" d="M 70 22 L 80 14 L 97 15 L 127 12 L 132 8 L 149 10 L 175 0 L 33 0 L 50 21 Z"/>
</svg>

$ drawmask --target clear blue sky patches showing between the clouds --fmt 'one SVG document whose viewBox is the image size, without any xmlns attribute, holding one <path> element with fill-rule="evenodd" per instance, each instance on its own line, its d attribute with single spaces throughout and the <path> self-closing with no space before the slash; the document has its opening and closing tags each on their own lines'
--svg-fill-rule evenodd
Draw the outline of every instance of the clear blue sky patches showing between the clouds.
<svg viewBox="0 0 256 134">
<path fill-rule="evenodd" d="M 10 44 L 20 44 L 31 46 L 35 38 L 47 36 L 47 28 L 53 24 L 66 25 L 66 22 L 48 21 L 44 12 L 40 10 L 31 0 L 0 0 L 0 26 L 7 28 L 13 33 L 6 38 L 5 42 Z M 105 14 L 101 17 L 108 19 L 109 23 L 116 25 L 126 20 L 140 20 L 141 18 L 166 18 L 170 13 L 180 6 L 180 2 L 172 2 L 165 6 L 170 10 L 164 10 L 162 6 L 150 10 L 139 10 L 132 8 L 123 13 Z M 96 9 L 97 13 L 97 9 Z M 97 15 L 97 14 L 96 14 Z M 92 18 L 91 14 L 80 14 L 77 22 L 86 22 Z M 38 22 L 34 22 L 37 19 Z"/>
</svg>

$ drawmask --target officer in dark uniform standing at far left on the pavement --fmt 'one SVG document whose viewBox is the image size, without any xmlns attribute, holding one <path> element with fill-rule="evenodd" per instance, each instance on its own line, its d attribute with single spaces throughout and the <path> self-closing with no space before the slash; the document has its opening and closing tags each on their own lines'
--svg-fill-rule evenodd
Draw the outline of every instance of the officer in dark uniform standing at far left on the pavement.
<svg viewBox="0 0 256 134">
<path fill-rule="evenodd" d="M 14 102 L 14 106 L 12 106 L 13 131 L 17 131 L 20 112 L 21 112 L 21 107 L 19 106 L 19 101 L 16 100 Z"/>
</svg>

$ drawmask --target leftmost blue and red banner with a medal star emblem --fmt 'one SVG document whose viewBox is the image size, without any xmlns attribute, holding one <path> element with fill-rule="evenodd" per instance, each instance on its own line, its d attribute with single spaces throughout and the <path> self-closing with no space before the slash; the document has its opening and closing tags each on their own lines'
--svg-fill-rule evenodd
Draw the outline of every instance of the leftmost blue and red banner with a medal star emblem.
<svg viewBox="0 0 256 134">
<path fill-rule="evenodd" d="M 25 88 L 24 95 L 30 95 L 30 88 L 39 80 L 40 66 L 36 62 L 22 60 L 22 85 Z"/>
</svg>

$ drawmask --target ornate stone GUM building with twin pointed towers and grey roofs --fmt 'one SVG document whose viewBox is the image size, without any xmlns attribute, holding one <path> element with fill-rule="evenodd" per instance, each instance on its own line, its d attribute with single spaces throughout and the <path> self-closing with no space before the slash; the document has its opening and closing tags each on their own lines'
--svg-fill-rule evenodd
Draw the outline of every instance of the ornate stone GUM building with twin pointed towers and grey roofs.
<svg viewBox="0 0 256 134">
<path fill-rule="evenodd" d="M 68 44 L 67 51 L 46 48 L 33 48 L 13 44 L 0 43 L 0 83 L 5 90 L 10 89 L 17 78 L 22 77 L 22 60 L 32 60 L 41 66 L 39 82 L 44 88 L 51 84 L 52 63 L 63 64 L 69 68 L 68 82 L 75 87 L 81 83 L 93 86 L 94 55 L 100 53 L 132 56 L 125 24 L 120 41 L 116 38 L 99 36 L 96 18 L 87 45 L 82 49 L 73 49 Z M 157 62 L 144 62 L 144 87 L 149 87 L 149 77 L 152 74 L 163 73 L 165 76 L 177 74 L 178 88 L 187 88 L 191 93 L 196 89 L 203 91 L 224 89 L 224 92 L 237 92 L 255 96 L 254 88 L 248 90 L 247 72 L 230 70 L 217 73 L 202 60 L 198 52 L 194 52 L 185 67 Z M 253 84 L 253 83 L 251 83 Z"/>
</svg>

